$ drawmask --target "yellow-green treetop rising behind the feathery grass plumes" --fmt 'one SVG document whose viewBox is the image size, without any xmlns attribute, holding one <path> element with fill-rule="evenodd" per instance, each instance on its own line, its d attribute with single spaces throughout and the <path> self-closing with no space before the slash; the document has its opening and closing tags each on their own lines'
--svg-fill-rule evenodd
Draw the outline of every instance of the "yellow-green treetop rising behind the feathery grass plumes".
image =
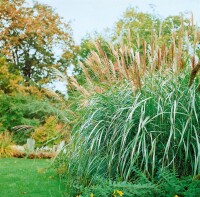
<svg viewBox="0 0 200 197">
<path fill-rule="evenodd" d="M 135 8 L 127 9 L 123 17 L 115 24 L 112 40 L 123 40 L 127 43 L 139 48 L 145 40 L 147 44 L 156 39 L 159 45 L 166 44 L 170 46 L 173 42 L 172 34 L 176 38 L 182 39 L 183 32 L 193 26 L 193 18 L 184 15 L 169 16 L 161 18 L 155 14 L 143 13 Z M 192 32 L 188 32 L 189 39 L 193 38 Z M 178 39 L 177 39 L 178 40 Z"/>
</svg>

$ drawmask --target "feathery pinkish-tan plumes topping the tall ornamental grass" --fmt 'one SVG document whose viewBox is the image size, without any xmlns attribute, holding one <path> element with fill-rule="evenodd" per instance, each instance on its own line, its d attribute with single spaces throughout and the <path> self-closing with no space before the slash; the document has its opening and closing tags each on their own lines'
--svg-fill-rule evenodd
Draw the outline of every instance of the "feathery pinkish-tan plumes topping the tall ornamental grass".
<svg viewBox="0 0 200 197">
<path fill-rule="evenodd" d="M 104 91 L 113 84 L 124 84 L 127 81 L 132 81 L 132 89 L 142 89 L 147 74 L 153 76 L 157 72 L 170 70 L 179 74 L 198 52 L 196 46 L 200 34 L 199 29 L 194 28 L 192 20 L 191 17 L 191 25 L 186 28 L 181 18 L 180 29 L 172 30 L 168 43 L 162 42 L 165 40 L 162 25 L 158 35 L 152 30 L 150 43 L 141 40 L 137 35 L 137 43 L 133 47 L 130 31 L 126 43 L 107 43 L 108 51 L 103 50 L 100 42 L 94 43 L 95 51 L 91 51 L 85 62 L 80 63 L 87 84 L 79 85 L 71 78 L 69 85 L 87 96 Z M 195 60 L 192 59 L 191 63 L 193 67 Z"/>
</svg>

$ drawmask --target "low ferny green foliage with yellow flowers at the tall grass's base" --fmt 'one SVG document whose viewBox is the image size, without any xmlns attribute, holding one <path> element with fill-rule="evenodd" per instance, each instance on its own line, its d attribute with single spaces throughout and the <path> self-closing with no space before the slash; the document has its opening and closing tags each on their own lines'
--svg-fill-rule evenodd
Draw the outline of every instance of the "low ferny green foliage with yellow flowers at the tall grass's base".
<svg viewBox="0 0 200 197">
<path fill-rule="evenodd" d="M 92 184 L 84 187 L 73 182 L 74 187 L 67 188 L 67 191 L 70 196 L 76 197 L 198 197 L 200 195 L 200 182 L 191 176 L 178 178 L 174 173 L 160 170 L 154 180 L 149 180 L 138 169 L 134 172 L 131 182 L 94 176 Z"/>
</svg>

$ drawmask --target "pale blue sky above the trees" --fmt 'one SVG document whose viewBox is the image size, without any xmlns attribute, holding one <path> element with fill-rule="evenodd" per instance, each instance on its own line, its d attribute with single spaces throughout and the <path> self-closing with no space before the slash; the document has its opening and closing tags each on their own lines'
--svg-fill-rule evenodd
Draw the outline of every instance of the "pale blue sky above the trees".
<svg viewBox="0 0 200 197">
<path fill-rule="evenodd" d="M 31 1 L 31 0 L 28 0 Z M 77 43 L 86 33 L 102 32 L 113 24 L 129 7 L 138 7 L 144 12 L 155 12 L 163 17 L 192 11 L 195 21 L 200 21 L 200 0 L 38 0 L 51 5 L 66 21 L 71 21 Z"/>
</svg>

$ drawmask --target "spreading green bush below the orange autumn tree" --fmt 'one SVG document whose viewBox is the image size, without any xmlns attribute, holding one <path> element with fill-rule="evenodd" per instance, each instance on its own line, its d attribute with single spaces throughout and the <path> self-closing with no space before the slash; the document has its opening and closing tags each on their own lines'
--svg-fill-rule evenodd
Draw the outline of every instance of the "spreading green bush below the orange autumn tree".
<svg viewBox="0 0 200 197">
<path fill-rule="evenodd" d="M 0 95 L 0 132 L 12 131 L 13 138 L 18 144 L 24 144 L 26 138 L 30 137 L 32 128 L 43 124 L 45 119 L 52 115 L 56 115 L 60 121 L 66 121 L 66 112 L 61 110 L 61 106 L 53 104 L 47 99 L 42 100 L 22 94 Z M 13 130 L 20 125 L 22 125 L 21 128 L 29 129 Z"/>
</svg>

